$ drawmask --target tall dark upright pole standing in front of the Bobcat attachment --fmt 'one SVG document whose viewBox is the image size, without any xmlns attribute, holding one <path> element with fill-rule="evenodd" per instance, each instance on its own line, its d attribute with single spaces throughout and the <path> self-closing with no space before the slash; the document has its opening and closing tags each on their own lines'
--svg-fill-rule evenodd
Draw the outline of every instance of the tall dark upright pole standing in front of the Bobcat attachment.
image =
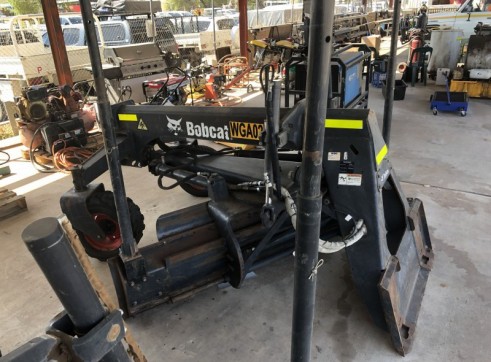
<svg viewBox="0 0 491 362">
<path fill-rule="evenodd" d="M 311 3 L 307 107 L 298 196 L 293 296 L 292 361 L 310 361 L 320 235 L 322 160 L 333 45 L 334 1 Z"/>
</svg>

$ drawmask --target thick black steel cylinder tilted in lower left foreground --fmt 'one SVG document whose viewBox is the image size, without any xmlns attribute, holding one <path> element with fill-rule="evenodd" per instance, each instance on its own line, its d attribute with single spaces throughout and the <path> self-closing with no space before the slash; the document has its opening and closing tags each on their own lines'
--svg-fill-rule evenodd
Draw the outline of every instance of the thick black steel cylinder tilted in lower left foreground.
<svg viewBox="0 0 491 362">
<path fill-rule="evenodd" d="M 34 221 L 22 232 L 22 240 L 65 308 L 77 335 L 88 333 L 109 314 L 56 218 Z M 119 342 L 104 361 L 130 361 L 130 358 Z"/>
</svg>

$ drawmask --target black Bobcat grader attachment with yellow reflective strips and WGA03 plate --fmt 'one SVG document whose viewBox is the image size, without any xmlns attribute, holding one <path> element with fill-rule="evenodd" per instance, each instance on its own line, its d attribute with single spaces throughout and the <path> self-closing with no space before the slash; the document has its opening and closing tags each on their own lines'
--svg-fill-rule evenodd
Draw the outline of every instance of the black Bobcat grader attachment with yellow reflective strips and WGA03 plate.
<svg viewBox="0 0 491 362">
<path fill-rule="evenodd" d="M 87 11 L 82 6 L 88 18 Z M 307 155 L 321 166 L 320 224 L 297 225 L 301 182 L 313 177 L 302 163 L 309 96 L 280 109 L 281 86 L 274 82 L 266 109 L 110 107 L 100 91 L 95 34 L 90 26 L 87 32 L 105 150 L 73 170 L 74 187 L 61 207 L 89 255 L 109 259 L 126 315 L 222 282 L 240 288 L 249 272 L 293 253 L 302 242 L 295 241 L 296 227 L 315 228 L 320 252 L 345 250 L 372 319 L 390 332 L 400 354 L 407 353 L 433 253 L 423 204 L 404 196 L 375 114 L 326 110 L 323 150 Z M 329 64 L 319 71 L 326 69 Z M 217 151 L 198 140 L 258 148 Z M 161 189 L 180 186 L 208 199 L 160 216 L 156 242 L 139 248 L 143 216 L 126 198 L 121 165 L 147 167 Z M 114 194 L 92 183 L 108 169 Z"/>
</svg>

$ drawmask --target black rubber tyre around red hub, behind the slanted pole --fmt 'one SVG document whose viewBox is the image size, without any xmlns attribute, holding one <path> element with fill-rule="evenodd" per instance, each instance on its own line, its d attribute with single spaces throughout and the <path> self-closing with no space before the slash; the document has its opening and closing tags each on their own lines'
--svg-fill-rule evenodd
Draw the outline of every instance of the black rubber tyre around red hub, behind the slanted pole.
<svg viewBox="0 0 491 362">
<path fill-rule="evenodd" d="M 143 236 L 143 230 L 145 229 L 144 217 L 140 211 L 140 208 L 131 200 L 127 198 L 128 208 L 130 211 L 131 229 L 133 231 L 133 237 L 136 243 L 140 242 Z M 114 196 L 111 191 L 104 191 L 92 195 L 87 201 L 87 208 L 89 212 L 94 216 L 102 218 L 99 221 L 99 225 L 106 232 L 111 232 L 114 235 L 119 234 L 118 217 L 116 214 L 116 205 L 114 204 Z M 105 218 L 105 219 L 104 219 Z M 117 226 L 116 231 L 114 227 Z M 112 257 L 119 255 L 119 247 L 121 246 L 121 239 L 119 239 L 119 245 L 117 247 L 110 247 L 109 249 L 101 248 L 95 245 L 95 241 L 91 240 L 83 231 L 75 230 L 80 238 L 82 245 L 87 252 L 87 255 L 106 261 Z M 112 242 L 118 244 L 117 239 Z"/>
</svg>

